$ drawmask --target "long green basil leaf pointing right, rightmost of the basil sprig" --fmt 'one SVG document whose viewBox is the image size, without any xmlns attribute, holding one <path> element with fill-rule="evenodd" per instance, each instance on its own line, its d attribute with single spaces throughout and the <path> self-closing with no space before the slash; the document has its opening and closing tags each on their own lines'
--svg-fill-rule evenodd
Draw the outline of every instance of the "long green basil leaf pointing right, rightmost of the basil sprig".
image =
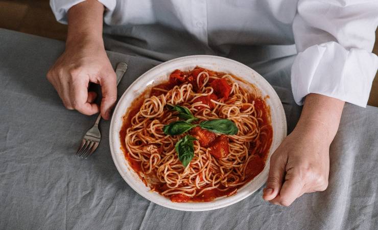
<svg viewBox="0 0 378 230">
<path fill-rule="evenodd" d="M 232 121 L 228 119 L 216 119 L 200 123 L 200 127 L 216 133 L 227 135 L 237 134 L 239 129 Z"/>
</svg>

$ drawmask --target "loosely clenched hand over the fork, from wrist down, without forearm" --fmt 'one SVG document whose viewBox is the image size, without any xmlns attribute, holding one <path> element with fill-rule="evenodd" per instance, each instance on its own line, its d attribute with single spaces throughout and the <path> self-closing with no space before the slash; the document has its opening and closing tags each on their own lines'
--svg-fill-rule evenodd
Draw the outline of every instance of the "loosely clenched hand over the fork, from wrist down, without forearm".
<svg viewBox="0 0 378 230">
<path fill-rule="evenodd" d="M 101 111 L 105 120 L 110 118 L 117 96 L 116 76 L 102 40 L 82 39 L 67 43 L 64 53 L 50 68 L 47 79 L 67 109 L 76 109 L 86 115 Z M 97 94 L 88 91 L 89 82 L 101 85 L 100 106 L 93 103 Z"/>
</svg>

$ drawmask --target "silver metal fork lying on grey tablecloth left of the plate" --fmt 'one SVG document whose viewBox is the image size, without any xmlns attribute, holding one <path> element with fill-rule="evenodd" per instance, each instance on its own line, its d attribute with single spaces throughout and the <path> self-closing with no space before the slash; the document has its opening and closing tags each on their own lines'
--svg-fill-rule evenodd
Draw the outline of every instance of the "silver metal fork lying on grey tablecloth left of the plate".
<svg viewBox="0 0 378 230">
<path fill-rule="evenodd" d="M 120 62 L 117 64 L 117 67 L 115 69 L 115 74 L 117 76 L 117 85 L 120 83 L 126 70 L 127 70 L 126 63 Z M 86 159 L 87 157 L 91 156 L 93 152 L 95 152 L 97 147 L 99 147 L 99 144 L 101 141 L 101 132 L 99 129 L 100 120 L 101 120 L 101 113 L 97 117 L 95 125 L 93 125 L 93 127 L 90 128 L 87 131 L 87 133 L 85 133 L 83 137 L 83 141 L 81 142 L 81 145 L 78 151 L 76 152 L 76 156 Z"/>
</svg>

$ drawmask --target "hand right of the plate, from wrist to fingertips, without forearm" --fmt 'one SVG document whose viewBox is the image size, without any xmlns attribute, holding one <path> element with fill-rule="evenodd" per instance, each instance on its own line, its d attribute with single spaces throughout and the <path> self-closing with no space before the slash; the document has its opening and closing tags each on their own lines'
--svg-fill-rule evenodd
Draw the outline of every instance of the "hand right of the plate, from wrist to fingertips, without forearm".
<svg viewBox="0 0 378 230">
<path fill-rule="evenodd" d="M 328 186 L 329 145 L 321 124 L 298 124 L 273 153 L 263 198 L 289 206 L 304 193 Z"/>
</svg>

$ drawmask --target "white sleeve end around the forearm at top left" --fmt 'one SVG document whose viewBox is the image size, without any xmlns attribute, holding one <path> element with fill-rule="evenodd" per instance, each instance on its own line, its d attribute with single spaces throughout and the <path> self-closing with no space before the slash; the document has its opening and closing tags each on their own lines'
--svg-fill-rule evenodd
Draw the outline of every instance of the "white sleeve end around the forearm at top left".
<svg viewBox="0 0 378 230">
<path fill-rule="evenodd" d="M 69 8 L 84 2 L 85 0 L 50 0 L 50 7 L 53 10 L 55 18 L 62 24 L 67 24 L 67 12 Z M 113 11 L 116 0 L 97 0 L 105 6 L 107 11 Z"/>
</svg>

